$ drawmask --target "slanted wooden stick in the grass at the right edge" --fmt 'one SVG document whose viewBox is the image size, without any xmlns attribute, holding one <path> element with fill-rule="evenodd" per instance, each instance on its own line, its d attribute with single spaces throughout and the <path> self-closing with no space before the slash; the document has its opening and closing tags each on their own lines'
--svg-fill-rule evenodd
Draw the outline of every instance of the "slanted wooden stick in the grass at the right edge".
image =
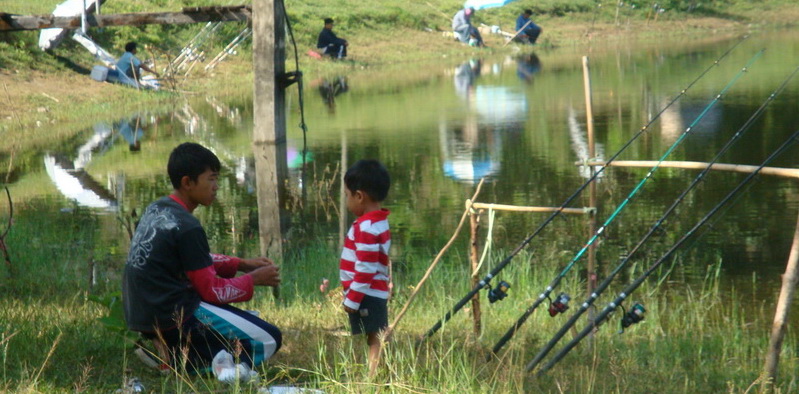
<svg viewBox="0 0 799 394">
<path fill-rule="evenodd" d="M 774 324 L 771 326 L 771 339 L 768 344 L 766 363 L 763 367 L 764 384 L 766 385 L 773 385 L 777 379 L 777 365 L 780 361 L 782 340 L 785 338 L 785 326 L 788 313 L 791 310 L 791 300 L 796 291 L 796 284 L 799 282 L 799 264 L 797 262 L 799 262 L 799 219 L 796 220 L 793 245 L 791 245 L 791 253 L 785 266 L 785 274 L 782 275 L 782 289 L 777 301 L 777 310 L 774 313 Z"/>
</svg>

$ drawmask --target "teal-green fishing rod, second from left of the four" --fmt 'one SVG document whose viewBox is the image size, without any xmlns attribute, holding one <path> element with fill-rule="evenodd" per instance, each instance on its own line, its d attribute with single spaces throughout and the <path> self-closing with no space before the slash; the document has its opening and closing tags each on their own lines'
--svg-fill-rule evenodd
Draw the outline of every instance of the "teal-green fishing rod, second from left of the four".
<svg viewBox="0 0 799 394">
<path fill-rule="evenodd" d="M 519 327 L 521 327 L 521 325 L 524 324 L 525 321 L 527 321 L 527 319 L 530 317 L 530 315 L 533 313 L 533 311 L 535 311 L 536 308 L 538 308 L 538 306 L 541 305 L 541 303 L 543 303 L 545 299 L 550 301 L 550 311 L 549 311 L 549 313 L 550 313 L 551 316 L 554 317 L 558 313 L 566 311 L 566 309 L 568 308 L 566 303 L 568 303 L 568 301 L 570 299 L 569 296 L 567 294 L 565 294 L 565 293 L 561 293 L 556 298 L 555 301 L 552 301 L 549 298 L 549 295 L 552 293 L 552 290 L 554 290 L 556 287 L 558 287 L 558 285 L 560 284 L 561 280 L 563 280 L 563 278 L 566 276 L 566 274 L 568 274 L 569 271 L 572 269 L 572 267 L 574 267 L 575 263 L 577 263 L 577 261 L 580 260 L 580 258 L 582 258 L 583 255 L 585 255 L 585 252 L 588 250 L 588 248 L 594 242 L 596 242 L 597 239 L 599 239 L 599 236 L 601 236 L 602 233 L 605 232 L 605 229 L 611 223 L 613 223 L 613 221 L 621 213 L 621 211 L 624 210 L 625 207 L 627 207 L 627 205 L 630 203 L 630 201 L 632 201 L 633 197 L 635 197 L 635 195 L 638 194 L 638 192 L 641 191 L 641 189 L 643 189 L 644 184 L 646 184 L 646 182 L 650 178 L 652 178 L 652 176 L 655 174 L 655 171 L 657 171 L 658 168 L 660 168 L 660 164 L 664 160 L 666 160 L 666 158 L 675 149 L 677 149 L 677 146 L 679 146 L 680 143 L 682 143 L 682 141 L 685 140 L 685 138 L 691 133 L 691 131 L 693 130 L 694 126 L 696 126 L 696 124 L 699 123 L 699 121 L 701 121 L 702 118 L 705 117 L 705 115 L 710 111 L 710 109 L 719 100 L 721 100 L 721 97 L 725 93 L 727 93 L 727 90 L 729 90 L 735 84 L 735 82 L 737 82 L 738 79 L 744 73 L 746 73 L 746 71 L 749 69 L 749 67 L 752 65 L 752 63 L 754 63 L 754 61 L 757 60 L 763 54 L 764 51 L 765 51 L 765 49 L 761 49 L 754 56 L 752 56 L 752 58 L 749 59 L 749 61 L 746 63 L 746 65 L 743 68 L 741 68 L 741 70 L 738 71 L 737 74 L 735 74 L 735 76 L 730 80 L 730 82 L 727 83 L 727 86 L 725 86 L 713 98 L 713 100 L 711 100 L 710 103 L 708 103 L 705 106 L 704 110 L 702 110 L 702 112 L 694 119 L 694 121 L 691 122 L 690 125 L 688 125 L 688 127 L 685 129 L 685 131 L 682 132 L 682 134 L 680 134 L 680 136 L 677 138 L 677 140 L 674 141 L 674 143 L 671 144 L 671 146 L 668 149 L 666 149 L 666 152 L 663 153 L 663 155 L 660 157 L 660 159 L 658 159 L 658 162 L 655 163 L 655 165 L 649 170 L 649 172 L 647 172 L 647 174 L 638 182 L 638 184 L 635 185 L 635 187 L 630 192 L 630 194 L 628 194 L 627 197 L 624 198 L 624 201 L 622 201 L 621 204 L 619 204 L 619 206 L 616 207 L 616 209 L 613 211 L 613 213 L 611 213 L 610 216 L 608 216 L 608 218 L 605 220 L 605 222 L 602 223 L 602 226 L 599 227 L 594 232 L 594 235 L 592 235 L 591 238 L 588 239 L 588 242 L 586 242 L 585 245 L 580 249 L 580 251 L 578 251 L 577 254 L 574 255 L 574 257 L 571 259 L 571 261 L 569 261 L 569 263 L 566 264 L 566 267 L 564 267 L 563 270 L 560 273 L 558 273 L 555 276 L 554 279 L 552 279 L 552 281 L 549 283 L 549 285 L 544 290 L 544 292 L 541 293 L 538 296 L 538 298 L 535 300 L 535 302 L 533 302 L 533 304 L 530 305 L 530 307 L 528 307 L 524 311 L 524 313 L 522 313 L 522 315 L 519 317 L 519 319 L 516 320 L 516 323 L 514 323 L 513 326 L 511 326 L 508 329 L 508 331 L 505 333 L 505 335 L 503 335 L 502 338 L 500 338 L 500 340 L 497 341 L 497 343 L 494 345 L 493 349 L 491 350 L 492 354 L 496 354 L 496 352 L 499 351 L 499 349 L 502 348 L 502 346 L 504 346 L 505 343 L 507 343 L 511 338 L 513 338 L 513 336 L 516 334 L 516 331 L 519 329 Z M 490 358 L 491 354 L 489 354 L 488 357 Z"/>
</svg>

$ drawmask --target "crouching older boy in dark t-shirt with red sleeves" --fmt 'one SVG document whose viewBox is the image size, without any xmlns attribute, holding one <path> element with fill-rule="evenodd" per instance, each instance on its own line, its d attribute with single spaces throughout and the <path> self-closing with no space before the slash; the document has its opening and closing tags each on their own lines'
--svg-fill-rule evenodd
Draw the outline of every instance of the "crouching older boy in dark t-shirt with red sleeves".
<svg viewBox="0 0 799 394">
<path fill-rule="evenodd" d="M 280 349 L 281 333 L 228 304 L 252 298 L 254 286 L 277 286 L 280 274 L 266 258 L 210 253 L 192 212 L 216 199 L 220 167 L 213 152 L 195 143 L 170 154 L 167 172 L 174 191 L 147 207 L 131 241 L 122 283 L 125 321 L 156 347 L 169 349 L 160 356 L 172 367 L 182 365 L 179 358 L 185 355 L 190 370 L 205 372 L 215 360 L 227 369 L 215 365 L 220 380 L 220 372 L 249 380 L 255 376 L 250 369 Z M 236 271 L 246 274 L 235 277 Z M 233 365 L 232 355 L 241 364 Z"/>
</svg>

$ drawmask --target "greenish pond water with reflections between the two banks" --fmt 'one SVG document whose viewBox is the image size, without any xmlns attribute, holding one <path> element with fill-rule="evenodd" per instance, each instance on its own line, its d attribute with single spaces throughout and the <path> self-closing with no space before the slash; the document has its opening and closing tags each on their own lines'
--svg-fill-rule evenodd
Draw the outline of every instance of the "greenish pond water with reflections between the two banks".
<svg viewBox="0 0 799 394">
<path fill-rule="evenodd" d="M 586 167 L 575 164 L 588 158 L 584 55 L 590 56 L 596 155 L 608 158 L 737 44 L 617 158 L 657 160 L 680 142 L 668 160 L 709 161 L 794 71 L 799 59 L 796 32 L 763 33 L 740 41 L 740 37 L 681 37 L 658 43 L 594 43 L 590 48 L 531 47 L 511 57 L 480 57 L 481 52 L 475 52 L 472 59 L 442 59 L 423 73 L 398 72 L 375 80 L 371 73 L 361 72 L 307 81 L 309 154 L 304 166 L 303 135 L 295 127 L 296 93 L 288 103 L 289 193 L 283 204 L 290 219 L 284 234 L 287 244 L 337 245 L 341 229 L 352 219 L 342 216 L 339 178 L 342 168 L 360 158 L 377 158 L 392 174 L 385 205 L 392 210 L 395 259 L 412 249 L 432 256 L 451 236 L 465 199 L 481 178 L 486 183 L 480 202 L 561 205 L 589 176 Z M 799 130 L 798 102 L 799 77 L 719 161 L 760 164 Z M 170 112 L 120 115 L 116 122 L 97 122 L 77 137 L 54 141 L 40 152 L 26 152 L 13 174 L 12 195 L 44 201 L 53 215 L 78 206 L 91 209 L 104 228 L 115 229 L 98 242 L 114 243 L 123 234 L 117 216 L 141 211 L 169 192 L 165 175 L 169 151 L 179 142 L 196 141 L 211 147 L 224 163 L 218 203 L 198 211 L 213 244 L 231 253 L 257 249 L 249 92 L 225 100 L 190 100 Z M 691 133 L 680 138 L 692 124 Z M 798 151 L 799 146 L 789 149 L 771 165 L 796 168 Z M 611 217 L 647 171 L 613 167 L 602 174 L 597 187 L 599 223 Z M 616 264 L 697 174 L 672 168 L 655 172 L 600 238 L 600 272 Z M 660 256 L 745 176 L 710 173 L 665 222 L 664 231 L 647 244 L 646 259 L 640 263 Z M 721 263 L 724 283 L 754 286 L 750 290 L 771 299 L 779 288 L 796 226 L 797 190 L 795 178 L 757 178 L 711 226 L 699 231 L 689 243 L 690 258 L 675 268 L 672 280 L 700 281 L 709 265 Z M 587 205 L 587 191 L 571 204 Z M 26 208 L 20 204 L 19 209 Z M 515 247 L 548 215 L 497 213 L 495 247 Z M 557 248 L 555 254 L 564 256 L 565 265 L 588 236 L 585 216 L 563 216 L 531 247 Z M 483 220 L 484 235 L 487 216 Z M 466 256 L 465 237 L 461 241 L 457 248 Z M 114 258 L 124 260 L 124 250 L 114 253 Z"/>
</svg>

